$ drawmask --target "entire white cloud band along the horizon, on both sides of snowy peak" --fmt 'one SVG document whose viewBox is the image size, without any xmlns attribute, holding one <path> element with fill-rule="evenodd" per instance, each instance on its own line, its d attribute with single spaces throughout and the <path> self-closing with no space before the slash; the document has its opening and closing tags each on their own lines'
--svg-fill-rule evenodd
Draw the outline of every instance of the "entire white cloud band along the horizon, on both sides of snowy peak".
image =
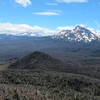
<svg viewBox="0 0 100 100">
<path fill-rule="evenodd" d="M 0 34 L 17 36 L 50 36 L 58 34 L 62 30 L 72 30 L 75 26 L 60 26 L 52 30 L 40 26 L 30 26 L 27 24 L 0 23 Z M 81 24 L 80 26 L 84 27 L 85 25 Z M 100 35 L 100 30 L 95 30 L 94 28 L 90 28 L 88 26 L 86 28 L 96 35 Z"/>
</svg>

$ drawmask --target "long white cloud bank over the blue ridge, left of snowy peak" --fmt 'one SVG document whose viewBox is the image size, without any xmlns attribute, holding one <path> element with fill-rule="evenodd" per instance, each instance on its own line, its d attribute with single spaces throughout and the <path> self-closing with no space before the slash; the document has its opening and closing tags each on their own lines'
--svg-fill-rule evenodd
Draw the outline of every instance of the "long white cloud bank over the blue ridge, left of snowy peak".
<svg viewBox="0 0 100 100">
<path fill-rule="evenodd" d="M 47 36 L 52 35 L 54 31 L 40 26 L 30 26 L 27 24 L 0 23 L 0 34 L 3 33 L 18 36 Z"/>
</svg>

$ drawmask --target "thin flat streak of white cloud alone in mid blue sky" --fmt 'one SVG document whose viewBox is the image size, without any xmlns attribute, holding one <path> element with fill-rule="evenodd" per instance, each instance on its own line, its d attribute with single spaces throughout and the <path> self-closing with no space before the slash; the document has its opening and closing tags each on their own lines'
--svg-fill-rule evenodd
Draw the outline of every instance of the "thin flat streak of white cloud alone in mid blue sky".
<svg viewBox="0 0 100 100">
<path fill-rule="evenodd" d="M 44 11 L 44 12 L 34 12 L 35 15 L 45 15 L 45 16 L 57 16 L 60 12 L 57 11 Z"/>
</svg>

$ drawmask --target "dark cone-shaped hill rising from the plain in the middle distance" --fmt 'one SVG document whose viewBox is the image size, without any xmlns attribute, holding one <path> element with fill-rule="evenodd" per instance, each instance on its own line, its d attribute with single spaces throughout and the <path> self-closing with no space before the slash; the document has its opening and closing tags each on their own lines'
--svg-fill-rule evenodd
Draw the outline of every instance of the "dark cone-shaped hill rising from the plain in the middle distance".
<svg viewBox="0 0 100 100">
<path fill-rule="evenodd" d="M 12 69 L 59 69 L 64 67 L 60 60 L 51 57 L 48 54 L 42 52 L 33 52 L 28 56 L 11 64 L 9 68 Z"/>
</svg>

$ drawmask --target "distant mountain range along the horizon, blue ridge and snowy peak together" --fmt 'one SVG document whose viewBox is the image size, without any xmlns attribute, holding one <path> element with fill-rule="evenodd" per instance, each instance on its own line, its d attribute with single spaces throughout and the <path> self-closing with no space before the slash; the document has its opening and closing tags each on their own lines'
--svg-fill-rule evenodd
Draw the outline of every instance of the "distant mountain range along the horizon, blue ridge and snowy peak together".
<svg viewBox="0 0 100 100">
<path fill-rule="evenodd" d="M 98 33 L 99 34 L 99 33 Z M 100 40 L 100 36 L 97 35 L 95 32 L 92 32 L 91 30 L 84 28 L 82 26 L 76 26 L 75 28 L 71 30 L 61 30 L 60 32 L 55 32 L 51 36 L 44 36 L 39 33 L 34 33 L 34 32 L 23 32 L 20 33 L 19 35 L 16 34 L 0 34 L 0 39 L 3 38 L 31 38 L 31 37 L 49 37 L 52 39 L 62 39 L 66 41 L 76 41 L 76 42 L 91 42 L 94 40 Z"/>
</svg>

